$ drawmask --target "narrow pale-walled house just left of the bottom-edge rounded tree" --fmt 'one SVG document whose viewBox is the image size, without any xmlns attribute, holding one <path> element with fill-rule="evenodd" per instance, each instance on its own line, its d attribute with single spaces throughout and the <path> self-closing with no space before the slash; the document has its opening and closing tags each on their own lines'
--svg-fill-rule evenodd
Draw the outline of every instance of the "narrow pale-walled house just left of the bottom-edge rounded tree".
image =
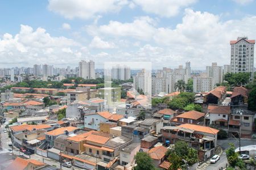
<svg viewBox="0 0 256 170">
<path fill-rule="evenodd" d="M 122 150 L 120 150 L 120 165 L 133 165 L 134 162 L 134 156 L 137 154 L 137 152 L 139 152 L 139 150 L 141 149 L 141 145 L 140 143 L 131 143 L 131 145 L 128 145 L 124 148 L 122 148 Z"/>
</svg>

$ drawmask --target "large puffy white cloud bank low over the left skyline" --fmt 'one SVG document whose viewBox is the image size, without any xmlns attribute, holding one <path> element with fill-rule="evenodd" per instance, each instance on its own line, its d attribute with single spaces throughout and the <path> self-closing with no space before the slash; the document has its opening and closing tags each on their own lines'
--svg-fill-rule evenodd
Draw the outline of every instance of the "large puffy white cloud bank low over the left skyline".
<svg viewBox="0 0 256 170">
<path fill-rule="evenodd" d="M 40 27 L 34 30 L 28 25 L 20 25 L 19 33 L 5 33 L 0 39 L 0 66 L 6 67 L 12 63 L 22 66 L 34 63 L 77 64 L 82 56 L 74 56 L 81 51 L 80 48 L 81 45 L 72 39 L 53 37 Z"/>
</svg>

